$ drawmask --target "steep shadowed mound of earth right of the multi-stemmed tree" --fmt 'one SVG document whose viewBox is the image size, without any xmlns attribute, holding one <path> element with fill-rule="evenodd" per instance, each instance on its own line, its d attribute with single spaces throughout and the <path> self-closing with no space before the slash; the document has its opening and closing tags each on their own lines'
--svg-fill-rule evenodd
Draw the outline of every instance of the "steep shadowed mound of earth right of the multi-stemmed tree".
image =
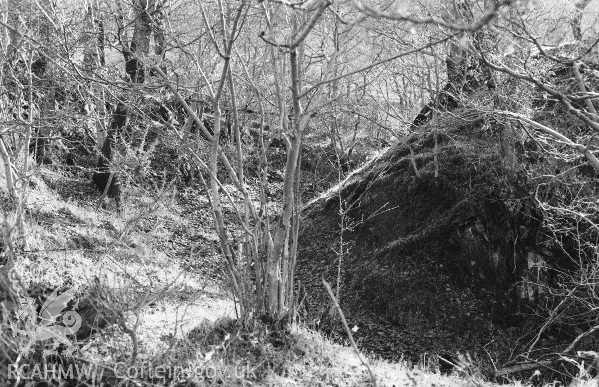
<svg viewBox="0 0 599 387">
<path fill-rule="evenodd" d="M 321 278 L 335 289 L 340 273 L 362 349 L 418 359 L 504 349 L 519 336 L 540 294 L 525 281 L 550 282 L 541 263 L 564 252 L 533 199 L 527 168 L 547 167 L 543 159 L 518 144 L 508 178 L 500 138 L 483 121 L 439 130 L 436 145 L 435 133 L 409 136 L 304 208 L 297 272 L 314 324 L 326 322 Z"/>
</svg>

